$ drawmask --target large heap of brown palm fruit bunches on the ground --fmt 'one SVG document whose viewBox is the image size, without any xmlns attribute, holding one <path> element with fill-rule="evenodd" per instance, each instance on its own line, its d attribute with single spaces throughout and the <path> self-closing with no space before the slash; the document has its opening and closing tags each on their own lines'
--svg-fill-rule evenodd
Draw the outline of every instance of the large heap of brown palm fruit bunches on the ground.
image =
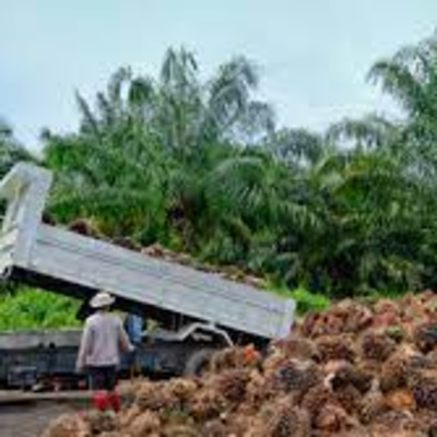
<svg viewBox="0 0 437 437">
<path fill-rule="evenodd" d="M 344 300 L 283 340 L 217 352 L 200 377 L 138 381 L 118 414 L 45 437 L 437 436 L 437 295 Z"/>
</svg>

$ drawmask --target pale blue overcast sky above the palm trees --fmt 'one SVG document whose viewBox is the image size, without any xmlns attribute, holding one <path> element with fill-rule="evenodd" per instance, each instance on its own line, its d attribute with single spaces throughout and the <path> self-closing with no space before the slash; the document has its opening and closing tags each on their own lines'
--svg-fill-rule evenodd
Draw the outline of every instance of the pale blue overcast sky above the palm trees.
<svg viewBox="0 0 437 437">
<path fill-rule="evenodd" d="M 282 125 L 321 129 L 394 110 L 366 73 L 436 25 L 437 0 L 0 0 L 0 116 L 37 147 L 43 127 L 76 127 L 75 88 L 92 96 L 120 66 L 154 73 L 184 45 L 205 74 L 246 55 Z"/>
</svg>

